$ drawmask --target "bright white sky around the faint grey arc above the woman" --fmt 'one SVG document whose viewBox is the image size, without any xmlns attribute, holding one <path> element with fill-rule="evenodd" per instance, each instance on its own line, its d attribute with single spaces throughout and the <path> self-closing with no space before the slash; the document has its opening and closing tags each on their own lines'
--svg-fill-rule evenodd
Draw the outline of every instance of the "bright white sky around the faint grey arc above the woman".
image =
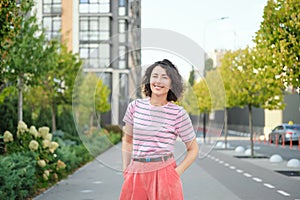
<svg viewBox="0 0 300 200">
<path fill-rule="evenodd" d="M 141 2 L 142 28 L 166 29 L 182 34 L 198 44 L 205 52 L 253 46 L 252 39 L 263 21 L 263 9 L 267 4 L 267 0 L 142 0 Z M 172 59 L 180 66 L 191 65 L 188 59 L 183 60 L 178 55 L 174 57 L 163 51 L 142 49 L 142 65 L 164 57 Z M 185 74 L 184 76 L 187 75 L 186 67 L 178 68 Z"/>
</svg>

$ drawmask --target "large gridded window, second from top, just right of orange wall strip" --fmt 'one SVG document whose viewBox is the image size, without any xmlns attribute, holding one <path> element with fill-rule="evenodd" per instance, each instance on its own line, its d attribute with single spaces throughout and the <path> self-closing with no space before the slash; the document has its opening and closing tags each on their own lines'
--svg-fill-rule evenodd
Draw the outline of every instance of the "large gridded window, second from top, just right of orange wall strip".
<svg viewBox="0 0 300 200">
<path fill-rule="evenodd" d="M 79 38 L 81 43 L 109 40 L 109 17 L 80 17 Z"/>
</svg>

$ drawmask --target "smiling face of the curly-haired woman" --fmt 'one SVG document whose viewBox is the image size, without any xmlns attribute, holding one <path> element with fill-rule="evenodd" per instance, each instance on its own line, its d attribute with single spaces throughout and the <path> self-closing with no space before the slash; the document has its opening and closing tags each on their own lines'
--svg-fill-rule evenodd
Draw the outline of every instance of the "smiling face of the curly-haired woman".
<svg viewBox="0 0 300 200">
<path fill-rule="evenodd" d="M 156 66 L 152 70 L 150 88 L 152 95 L 165 96 L 167 98 L 168 91 L 171 89 L 171 79 L 164 68 Z"/>
</svg>

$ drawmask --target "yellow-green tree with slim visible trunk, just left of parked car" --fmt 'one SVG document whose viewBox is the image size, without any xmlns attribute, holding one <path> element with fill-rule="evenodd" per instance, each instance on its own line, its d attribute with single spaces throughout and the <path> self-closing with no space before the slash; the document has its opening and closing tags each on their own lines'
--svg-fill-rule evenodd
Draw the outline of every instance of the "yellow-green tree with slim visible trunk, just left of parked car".
<svg viewBox="0 0 300 200">
<path fill-rule="evenodd" d="M 268 66 L 263 66 L 261 56 L 264 52 L 253 48 L 240 49 L 232 60 L 233 76 L 236 79 L 236 106 L 247 106 L 249 109 L 249 132 L 251 156 L 253 150 L 252 108 L 280 109 L 283 107 L 283 92 L 276 73 Z"/>
</svg>

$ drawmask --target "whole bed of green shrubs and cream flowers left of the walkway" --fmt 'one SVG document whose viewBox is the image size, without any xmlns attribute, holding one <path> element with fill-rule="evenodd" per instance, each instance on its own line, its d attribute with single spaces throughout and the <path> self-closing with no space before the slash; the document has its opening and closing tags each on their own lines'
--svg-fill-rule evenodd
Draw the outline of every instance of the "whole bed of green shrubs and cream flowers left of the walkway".
<svg viewBox="0 0 300 200">
<path fill-rule="evenodd" d="M 2 136 L 6 152 L 0 156 L 1 198 L 33 197 L 121 140 L 120 132 L 105 129 L 92 129 L 82 137 L 48 131 L 19 122 L 16 133 Z"/>
</svg>

